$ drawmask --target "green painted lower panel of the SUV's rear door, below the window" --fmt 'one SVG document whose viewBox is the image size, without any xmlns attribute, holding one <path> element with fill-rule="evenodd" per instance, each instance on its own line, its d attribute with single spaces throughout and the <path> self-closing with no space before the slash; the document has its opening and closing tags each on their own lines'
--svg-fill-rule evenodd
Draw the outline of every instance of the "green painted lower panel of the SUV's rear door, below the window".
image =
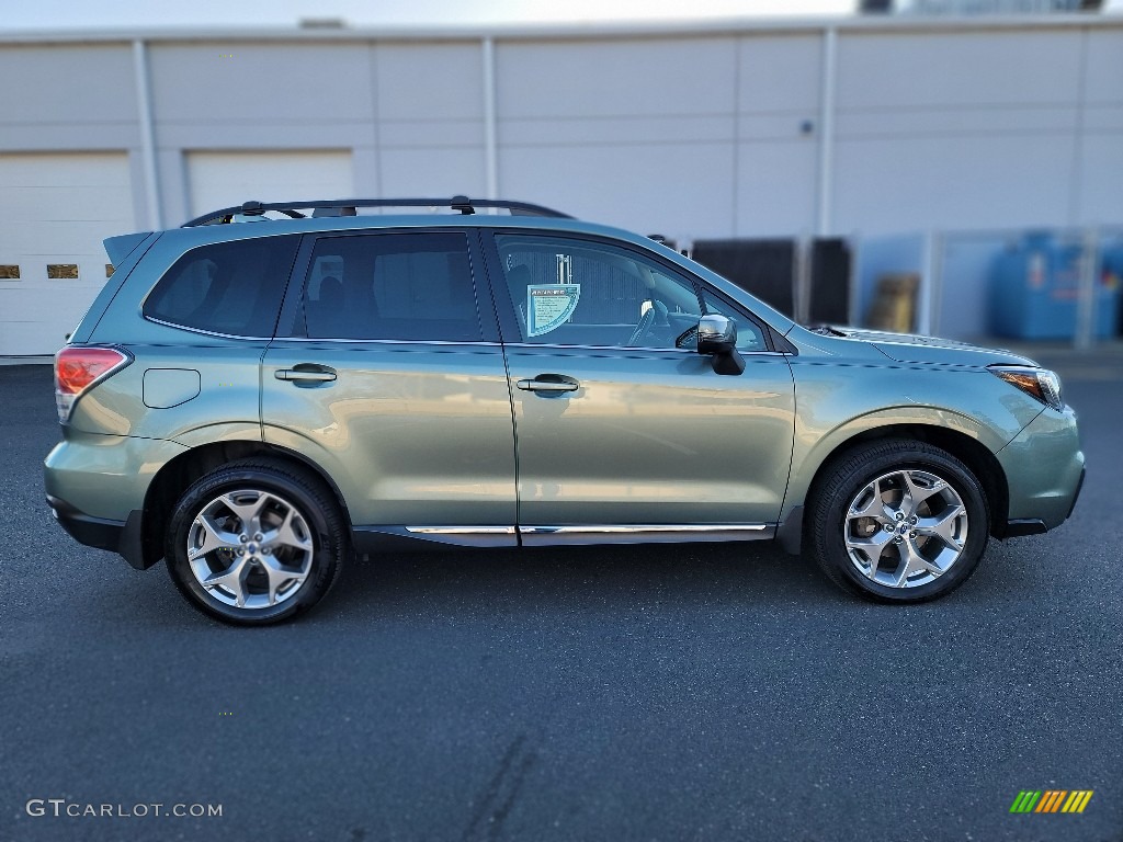
<svg viewBox="0 0 1123 842">
<path fill-rule="evenodd" d="M 275 378 L 301 364 L 338 378 L 310 386 Z M 265 441 L 319 465 L 356 525 L 514 525 L 511 396 L 499 345 L 277 340 L 262 400 Z"/>
</svg>

